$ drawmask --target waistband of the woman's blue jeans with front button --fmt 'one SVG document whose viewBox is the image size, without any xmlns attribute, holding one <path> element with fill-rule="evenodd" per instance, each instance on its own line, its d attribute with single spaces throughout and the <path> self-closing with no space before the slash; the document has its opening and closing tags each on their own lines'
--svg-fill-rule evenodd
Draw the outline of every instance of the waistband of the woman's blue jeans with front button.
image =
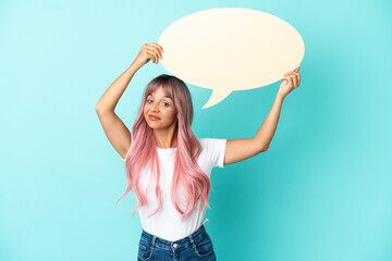
<svg viewBox="0 0 392 261">
<path fill-rule="evenodd" d="M 177 239 L 175 241 L 170 241 L 170 240 L 166 240 L 161 237 L 157 237 L 152 234 L 149 234 L 148 232 L 146 232 L 145 229 L 143 229 L 142 232 L 142 239 L 151 244 L 152 248 L 154 247 L 159 247 L 159 248 L 163 248 L 163 249 L 175 249 L 179 250 L 181 248 L 185 248 L 188 245 L 195 245 L 195 241 L 197 241 L 199 238 L 203 238 L 204 236 L 206 236 L 207 231 L 205 228 L 204 225 L 200 225 L 199 228 L 197 228 L 194 233 L 192 233 L 191 235 Z"/>
</svg>

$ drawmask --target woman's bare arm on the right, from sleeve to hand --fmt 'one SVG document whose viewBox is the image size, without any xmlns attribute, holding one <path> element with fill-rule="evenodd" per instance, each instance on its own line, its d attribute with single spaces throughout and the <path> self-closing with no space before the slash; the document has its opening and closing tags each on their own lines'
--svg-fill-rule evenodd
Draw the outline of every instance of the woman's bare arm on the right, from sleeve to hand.
<svg viewBox="0 0 392 261">
<path fill-rule="evenodd" d="M 246 160 L 268 150 L 278 126 L 283 100 L 293 89 L 299 86 L 299 67 L 301 64 L 294 71 L 284 74 L 284 79 L 279 87 L 272 108 L 255 137 L 226 140 L 224 165 Z"/>
</svg>

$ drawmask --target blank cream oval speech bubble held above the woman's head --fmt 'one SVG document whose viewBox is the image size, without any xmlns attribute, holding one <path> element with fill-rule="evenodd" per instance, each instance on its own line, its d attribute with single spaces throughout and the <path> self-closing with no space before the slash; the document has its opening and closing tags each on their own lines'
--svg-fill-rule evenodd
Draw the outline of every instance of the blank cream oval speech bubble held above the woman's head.
<svg viewBox="0 0 392 261">
<path fill-rule="evenodd" d="M 168 26 L 158 44 L 162 66 L 192 85 L 212 89 L 206 109 L 233 90 L 259 88 L 294 71 L 305 54 L 296 29 L 258 10 L 210 9 Z"/>
</svg>

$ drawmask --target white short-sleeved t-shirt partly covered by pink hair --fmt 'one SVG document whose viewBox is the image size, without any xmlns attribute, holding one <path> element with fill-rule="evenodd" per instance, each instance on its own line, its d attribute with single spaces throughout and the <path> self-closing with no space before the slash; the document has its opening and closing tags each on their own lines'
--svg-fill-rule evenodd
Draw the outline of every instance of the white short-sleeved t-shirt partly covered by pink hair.
<svg viewBox="0 0 392 261">
<path fill-rule="evenodd" d="M 210 177 L 212 167 L 219 166 L 223 169 L 226 139 L 201 138 L 198 140 L 201 145 L 201 152 L 197 162 L 200 169 L 208 177 Z M 180 221 L 181 214 L 174 208 L 170 198 L 170 187 L 174 171 L 174 152 L 176 148 L 161 149 L 157 147 L 157 150 L 161 171 L 159 181 L 161 189 L 161 207 L 157 213 L 148 217 L 148 215 L 154 213 L 154 211 L 158 208 L 158 199 L 155 194 L 155 183 L 152 182 L 147 192 L 147 204 L 139 208 L 137 213 L 139 213 L 143 229 L 157 237 L 174 241 L 191 235 L 201 226 L 207 204 L 205 203 L 203 210 L 200 211 L 200 197 L 189 215 L 187 215 L 183 222 Z M 124 162 L 125 159 L 123 159 Z M 143 179 L 143 186 L 146 188 L 149 183 L 150 175 L 145 172 L 143 176 L 146 177 Z M 180 209 L 185 211 L 185 197 L 177 195 L 176 202 Z"/>
</svg>

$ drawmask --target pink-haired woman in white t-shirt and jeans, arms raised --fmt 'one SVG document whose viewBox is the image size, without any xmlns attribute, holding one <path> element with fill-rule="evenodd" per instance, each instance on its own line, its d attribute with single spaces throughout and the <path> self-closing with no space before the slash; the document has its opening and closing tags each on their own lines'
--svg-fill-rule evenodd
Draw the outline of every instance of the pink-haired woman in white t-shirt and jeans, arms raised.
<svg viewBox="0 0 392 261">
<path fill-rule="evenodd" d="M 191 128 L 189 90 L 183 80 L 166 74 L 145 88 L 131 135 L 114 113 L 115 105 L 136 71 L 150 60 L 158 64 L 162 52 L 160 45 L 145 44 L 131 66 L 105 91 L 96 111 L 126 165 L 127 187 L 122 197 L 131 189 L 137 197 L 133 214 L 139 211 L 143 226 L 138 260 L 216 260 L 201 222 L 210 207 L 211 170 L 267 151 L 283 99 L 299 86 L 301 65 L 284 75 L 272 109 L 253 138 L 197 139 Z"/>
</svg>

